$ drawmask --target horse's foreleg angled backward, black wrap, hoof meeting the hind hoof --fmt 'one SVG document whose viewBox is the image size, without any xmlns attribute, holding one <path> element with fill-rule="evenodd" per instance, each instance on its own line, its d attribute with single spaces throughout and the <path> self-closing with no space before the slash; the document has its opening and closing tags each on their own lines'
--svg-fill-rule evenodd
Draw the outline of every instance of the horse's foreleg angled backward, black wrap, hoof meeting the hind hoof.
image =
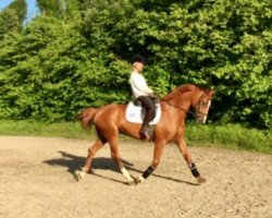
<svg viewBox="0 0 272 218">
<path fill-rule="evenodd" d="M 162 155 L 162 150 L 164 148 L 165 143 L 162 142 L 157 142 L 154 143 L 154 149 L 153 149 L 153 160 L 152 160 L 152 165 L 149 166 L 147 168 L 147 170 L 139 177 L 137 177 L 136 183 L 140 183 L 144 182 L 150 174 L 153 173 L 153 171 L 156 170 L 156 168 L 159 166 L 160 160 L 161 160 L 161 155 Z"/>
</svg>

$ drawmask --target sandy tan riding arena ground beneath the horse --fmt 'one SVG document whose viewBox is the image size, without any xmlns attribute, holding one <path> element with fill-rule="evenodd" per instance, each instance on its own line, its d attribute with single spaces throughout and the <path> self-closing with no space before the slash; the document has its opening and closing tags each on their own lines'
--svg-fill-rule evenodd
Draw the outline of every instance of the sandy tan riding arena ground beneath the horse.
<svg viewBox="0 0 272 218">
<path fill-rule="evenodd" d="M 0 136 L 1 218 L 272 218 L 272 156 L 189 147 L 200 173 L 198 185 L 174 145 L 168 145 L 154 174 L 126 185 L 108 144 L 77 182 L 92 142 Z M 121 142 L 133 175 L 147 169 L 151 143 Z"/>
</svg>

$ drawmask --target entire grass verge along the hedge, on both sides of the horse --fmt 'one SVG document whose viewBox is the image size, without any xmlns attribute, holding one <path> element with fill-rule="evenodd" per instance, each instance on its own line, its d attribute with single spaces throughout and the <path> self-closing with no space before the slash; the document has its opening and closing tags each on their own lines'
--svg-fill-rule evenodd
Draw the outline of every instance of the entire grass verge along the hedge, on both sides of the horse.
<svg viewBox="0 0 272 218">
<path fill-rule="evenodd" d="M 0 120 L 0 135 L 32 135 L 67 138 L 95 138 L 94 129 L 89 133 L 82 130 L 78 122 L 44 123 L 32 120 Z M 127 136 L 122 140 L 129 141 Z M 272 130 L 260 131 L 238 124 L 212 125 L 188 123 L 186 141 L 191 146 L 246 149 L 272 154 Z"/>
</svg>

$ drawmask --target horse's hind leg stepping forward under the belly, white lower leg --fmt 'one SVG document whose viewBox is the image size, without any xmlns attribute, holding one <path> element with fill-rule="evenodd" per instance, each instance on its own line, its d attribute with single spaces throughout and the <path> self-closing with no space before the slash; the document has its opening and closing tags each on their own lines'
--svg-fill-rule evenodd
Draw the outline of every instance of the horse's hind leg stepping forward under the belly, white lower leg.
<svg viewBox="0 0 272 218">
<path fill-rule="evenodd" d="M 111 140 L 109 140 L 109 144 L 110 144 L 110 147 L 111 147 L 111 157 L 114 160 L 114 162 L 118 165 L 121 173 L 127 180 L 128 184 L 135 184 L 134 179 L 127 172 L 126 168 L 124 167 L 124 165 L 123 165 L 123 162 L 122 162 L 122 160 L 120 158 L 119 145 L 118 145 L 118 137 L 114 136 Z"/>
</svg>

